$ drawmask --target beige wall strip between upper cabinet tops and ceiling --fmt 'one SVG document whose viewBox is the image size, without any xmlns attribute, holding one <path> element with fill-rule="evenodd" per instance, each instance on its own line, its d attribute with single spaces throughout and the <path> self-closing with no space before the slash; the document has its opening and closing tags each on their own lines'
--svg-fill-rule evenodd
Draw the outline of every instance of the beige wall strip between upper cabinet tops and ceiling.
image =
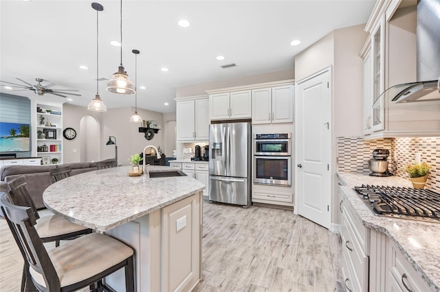
<svg viewBox="0 0 440 292">
<path fill-rule="evenodd" d="M 190 86 L 182 86 L 176 88 L 176 98 L 206 95 L 206 90 L 217 89 L 217 88 L 245 86 L 245 85 L 258 84 L 264 82 L 274 82 L 279 80 L 290 80 L 290 79 L 294 79 L 295 77 L 294 74 L 295 74 L 294 63 L 292 59 L 292 70 L 278 71 L 278 72 L 272 72 L 261 75 L 250 75 L 250 76 L 237 77 L 226 80 L 217 80 L 214 82 L 206 82 L 206 83 L 194 84 Z"/>
</svg>

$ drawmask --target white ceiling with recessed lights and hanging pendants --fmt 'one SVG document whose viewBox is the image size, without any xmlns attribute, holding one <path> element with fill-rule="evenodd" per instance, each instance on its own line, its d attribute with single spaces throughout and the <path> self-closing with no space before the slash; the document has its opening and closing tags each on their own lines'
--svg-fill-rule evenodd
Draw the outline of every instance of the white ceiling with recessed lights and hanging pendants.
<svg viewBox="0 0 440 292">
<path fill-rule="evenodd" d="M 87 106 L 96 94 L 96 10 L 92 1 L 0 0 L 0 80 L 79 89 L 71 104 Z M 100 0 L 99 77 L 120 64 L 120 1 Z M 294 56 L 333 29 L 366 23 L 374 0 L 344 1 L 134 1 L 122 2 L 122 62 L 135 80 L 137 106 L 175 111 L 175 88 L 293 69 Z M 182 28 L 179 19 L 191 25 Z M 289 45 L 294 39 L 301 44 Z M 216 60 L 223 55 L 225 60 Z M 236 67 L 222 69 L 221 65 Z M 84 71 L 81 64 L 89 67 Z M 168 72 L 160 69 L 166 66 Z M 99 82 L 107 108 L 134 106 L 134 95 L 115 95 Z M 140 86 L 146 86 L 145 90 Z M 32 91 L 0 92 L 36 96 Z M 46 94 L 44 99 L 65 100 Z M 168 101 L 169 106 L 164 106 Z"/>
</svg>

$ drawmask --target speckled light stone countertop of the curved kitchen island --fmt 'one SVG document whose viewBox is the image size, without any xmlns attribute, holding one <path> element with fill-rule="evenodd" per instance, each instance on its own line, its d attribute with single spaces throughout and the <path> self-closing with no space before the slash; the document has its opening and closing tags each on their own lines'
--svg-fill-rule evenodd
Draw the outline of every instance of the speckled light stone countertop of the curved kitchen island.
<svg viewBox="0 0 440 292">
<path fill-rule="evenodd" d="M 173 171 L 150 166 L 131 177 L 131 166 L 80 173 L 51 184 L 43 193 L 45 206 L 69 221 L 99 231 L 142 217 L 205 186 L 190 176 L 149 178 L 148 171 Z"/>
</svg>

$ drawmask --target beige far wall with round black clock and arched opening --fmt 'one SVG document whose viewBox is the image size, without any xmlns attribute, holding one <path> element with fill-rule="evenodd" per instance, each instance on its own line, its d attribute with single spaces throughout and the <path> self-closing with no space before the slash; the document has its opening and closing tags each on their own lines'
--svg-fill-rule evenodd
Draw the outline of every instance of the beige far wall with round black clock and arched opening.
<svg viewBox="0 0 440 292">
<path fill-rule="evenodd" d="M 129 158 L 135 153 L 141 153 L 146 145 L 164 147 L 164 121 L 161 112 L 153 112 L 137 108 L 137 112 L 142 119 L 146 121 L 157 121 L 158 127 L 161 129 L 153 139 L 147 141 L 144 134 L 140 133 L 138 127 L 140 124 L 131 123 L 130 117 L 134 112 L 134 108 L 113 108 L 107 112 L 91 112 L 87 108 L 81 106 L 72 106 L 70 104 L 63 105 L 63 127 L 73 127 L 77 132 L 77 137 L 68 141 L 63 141 L 63 162 L 80 162 L 82 160 L 102 160 L 115 157 L 115 148 L 113 145 L 106 145 L 109 136 L 116 137 L 118 145 L 118 163 L 120 165 L 129 165 Z M 83 119 L 87 117 L 87 119 Z M 93 133 L 81 131 L 80 121 L 89 121 L 91 117 L 98 123 L 99 131 L 96 131 L 98 139 L 91 141 L 90 135 Z M 168 114 L 173 117 L 173 114 Z M 83 143 L 82 143 L 83 141 Z M 93 145 L 91 144 L 93 143 Z M 172 154 L 170 151 L 169 156 Z M 165 153 L 165 152 L 164 152 Z M 165 153 L 166 154 L 166 153 Z M 166 154 L 168 156 L 168 154 Z M 96 158 L 94 158 L 96 157 Z"/>
</svg>

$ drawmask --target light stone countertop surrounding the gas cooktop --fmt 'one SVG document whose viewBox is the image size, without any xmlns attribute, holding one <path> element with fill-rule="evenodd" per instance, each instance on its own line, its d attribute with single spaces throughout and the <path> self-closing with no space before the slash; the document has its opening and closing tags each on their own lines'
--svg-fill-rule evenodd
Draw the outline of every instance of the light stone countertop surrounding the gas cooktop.
<svg viewBox="0 0 440 292">
<path fill-rule="evenodd" d="M 339 172 L 338 177 L 343 184 L 342 192 L 364 226 L 386 234 L 430 289 L 440 291 L 440 221 L 429 223 L 375 216 L 353 188 L 362 184 L 412 187 L 411 182 L 395 176 L 376 178 L 347 172 Z"/>
</svg>

